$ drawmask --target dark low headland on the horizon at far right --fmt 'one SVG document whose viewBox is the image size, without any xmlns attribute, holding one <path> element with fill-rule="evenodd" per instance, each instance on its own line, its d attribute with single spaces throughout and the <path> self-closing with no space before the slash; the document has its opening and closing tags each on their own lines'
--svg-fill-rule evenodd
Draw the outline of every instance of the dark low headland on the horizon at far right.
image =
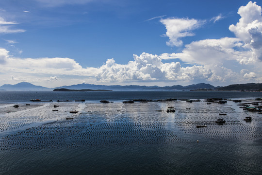
<svg viewBox="0 0 262 175">
<path fill-rule="evenodd" d="M 220 87 L 218 90 L 260 90 L 262 89 L 262 83 L 246 83 L 229 85 L 226 87 Z"/>
</svg>

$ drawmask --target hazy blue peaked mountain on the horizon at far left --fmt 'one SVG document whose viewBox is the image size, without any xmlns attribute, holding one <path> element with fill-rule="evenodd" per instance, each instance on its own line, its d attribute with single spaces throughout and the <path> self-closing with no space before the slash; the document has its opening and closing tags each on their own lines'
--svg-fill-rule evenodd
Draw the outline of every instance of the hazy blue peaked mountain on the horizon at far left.
<svg viewBox="0 0 262 175">
<path fill-rule="evenodd" d="M 27 83 L 27 82 L 21 82 L 21 83 L 17 83 L 16 85 L 3 85 L 0 87 L 0 89 L 4 89 L 4 90 L 14 90 L 14 91 L 28 91 L 28 90 L 33 90 L 33 91 L 47 91 L 47 90 L 52 90 L 50 88 L 45 88 L 45 87 L 41 87 L 41 86 L 35 86 L 31 83 Z"/>
</svg>

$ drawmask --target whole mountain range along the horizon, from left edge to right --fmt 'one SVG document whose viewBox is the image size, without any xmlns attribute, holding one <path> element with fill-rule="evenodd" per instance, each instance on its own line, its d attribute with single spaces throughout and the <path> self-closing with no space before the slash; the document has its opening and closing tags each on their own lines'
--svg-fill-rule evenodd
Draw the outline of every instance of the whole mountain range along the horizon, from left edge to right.
<svg viewBox="0 0 262 175">
<path fill-rule="evenodd" d="M 262 84 L 258 83 L 246 83 L 246 84 L 233 84 L 226 87 L 214 87 L 206 83 L 192 84 L 188 86 L 174 85 L 174 86 L 138 86 L 138 85 L 94 85 L 94 84 L 77 84 L 70 86 L 62 86 L 57 88 L 66 88 L 66 89 L 105 89 L 105 90 L 115 90 L 115 91 L 174 91 L 174 90 L 196 90 L 196 89 L 212 89 L 212 90 L 262 90 Z M 46 88 L 42 86 L 36 86 L 28 82 L 20 82 L 16 85 L 5 84 L 0 86 L 0 90 L 7 91 L 52 91 L 57 88 Z"/>
</svg>

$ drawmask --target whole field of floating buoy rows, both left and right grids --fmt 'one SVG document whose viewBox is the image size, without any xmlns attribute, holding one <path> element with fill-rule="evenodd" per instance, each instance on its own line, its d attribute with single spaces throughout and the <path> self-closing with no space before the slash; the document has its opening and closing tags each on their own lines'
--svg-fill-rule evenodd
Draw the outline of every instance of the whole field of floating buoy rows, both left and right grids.
<svg viewBox="0 0 262 175">
<path fill-rule="evenodd" d="M 262 118 L 259 114 L 236 112 L 230 105 L 218 103 L 62 103 L 57 112 L 51 109 L 58 103 L 18 105 L 18 108 L 0 106 L 0 116 L 4 116 L 0 117 L 0 132 L 12 131 L 12 134 L 0 139 L 1 150 L 191 141 L 181 134 L 184 132 L 217 140 L 262 139 Z M 176 108 L 176 113 L 159 112 L 164 107 Z M 81 112 L 70 117 L 68 108 Z M 221 116 L 220 113 L 227 115 Z M 171 123 L 168 122 L 170 116 L 174 118 Z M 246 123 L 243 120 L 246 117 L 252 118 L 252 122 Z M 53 121 L 42 123 L 50 120 Z M 223 125 L 218 124 L 219 121 Z M 39 122 L 41 124 L 37 125 Z M 180 132 L 166 129 L 167 124 Z M 21 127 L 27 129 L 20 130 Z"/>
</svg>

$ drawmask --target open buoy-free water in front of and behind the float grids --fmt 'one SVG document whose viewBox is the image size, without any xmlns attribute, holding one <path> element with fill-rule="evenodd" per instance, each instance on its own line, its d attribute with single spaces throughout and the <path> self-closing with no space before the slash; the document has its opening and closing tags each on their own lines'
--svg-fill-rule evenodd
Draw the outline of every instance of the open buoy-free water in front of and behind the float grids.
<svg viewBox="0 0 262 175">
<path fill-rule="evenodd" d="M 54 102 L 67 99 L 85 99 L 85 103 L 109 100 L 117 103 L 131 99 L 166 98 L 254 99 L 262 98 L 262 92 L 0 92 L 0 103 L 2 104 L 29 103 L 30 99 L 53 100 Z M 232 102 L 228 102 L 228 105 L 232 108 L 237 107 Z M 165 106 L 165 104 L 160 104 L 160 106 Z M 194 107 L 194 104 L 192 106 Z M 168 129 L 173 131 L 176 136 L 191 141 L 166 144 L 87 145 L 38 150 L 0 150 L 0 175 L 262 174 L 262 138 L 255 140 L 210 139 L 176 128 L 174 126 L 175 117 L 176 114 L 170 114 L 169 120 L 171 122 L 169 122 L 170 128 Z M 262 126 L 256 125 L 252 128 L 256 129 L 257 127 L 261 128 Z M 199 143 L 196 140 L 199 140 Z"/>
</svg>

